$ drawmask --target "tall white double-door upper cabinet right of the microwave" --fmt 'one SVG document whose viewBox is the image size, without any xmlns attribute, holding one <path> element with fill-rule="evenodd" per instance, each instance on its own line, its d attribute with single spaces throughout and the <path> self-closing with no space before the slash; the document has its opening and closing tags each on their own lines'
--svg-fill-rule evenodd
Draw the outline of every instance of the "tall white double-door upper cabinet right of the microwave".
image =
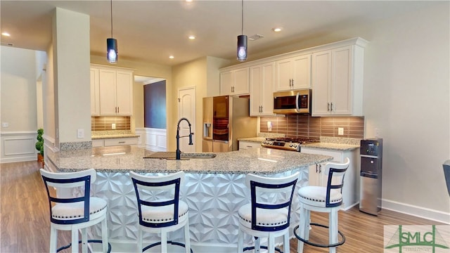
<svg viewBox="0 0 450 253">
<path fill-rule="evenodd" d="M 312 116 L 362 116 L 364 48 L 333 48 L 312 55 Z"/>
</svg>

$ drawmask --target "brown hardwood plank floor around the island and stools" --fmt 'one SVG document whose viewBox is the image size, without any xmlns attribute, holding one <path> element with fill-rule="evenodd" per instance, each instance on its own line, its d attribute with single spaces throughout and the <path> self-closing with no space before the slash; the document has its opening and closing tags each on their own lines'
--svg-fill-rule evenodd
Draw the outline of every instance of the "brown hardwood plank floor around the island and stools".
<svg viewBox="0 0 450 253">
<path fill-rule="evenodd" d="M 49 202 L 39 174 L 38 162 L 1 164 L 1 239 L 0 252 L 48 252 L 50 238 Z M 328 223 L 326 214 L 311 213 L 311 221 Z M 431 225 L 435 221 L 420 219 L 383 209 L 378 216 L 359 212 L 354 207 L 339 212 L 339 229 L 346 242 L 341 253 L 383 252 L 384 225 Z M 327 231 L 314 228 L 311 240 L 326 242 Z M 321 234 L 321 236 L 317 234 Z M 58 233 L 58 247 L 70 243 L 70 233 Z M 64 249 L 61 252 L 70 252 Z M 113 249 L 114 252 L 114 249 Z M 290 252 L 297 252 L 297 240 L 290 240 Z M 328 249 L 304 246 L 304 252 L 328 252 Z"/>
</svg>

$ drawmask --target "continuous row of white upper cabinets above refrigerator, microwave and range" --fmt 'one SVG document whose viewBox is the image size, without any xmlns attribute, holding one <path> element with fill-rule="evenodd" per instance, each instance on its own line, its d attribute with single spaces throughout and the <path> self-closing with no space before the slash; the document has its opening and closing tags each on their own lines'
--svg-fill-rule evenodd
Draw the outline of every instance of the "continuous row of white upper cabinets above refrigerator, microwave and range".
<svg viewBox="0 0 450 253">
<path fill-rule="evenodd" d="M 312 116 L 363 116 L 366 44 L 356 37 L 224 67 L 220 95 L 250 94 L 250 115 L 272 116 L 274 91 L 312 89 Z"/>
</svg>

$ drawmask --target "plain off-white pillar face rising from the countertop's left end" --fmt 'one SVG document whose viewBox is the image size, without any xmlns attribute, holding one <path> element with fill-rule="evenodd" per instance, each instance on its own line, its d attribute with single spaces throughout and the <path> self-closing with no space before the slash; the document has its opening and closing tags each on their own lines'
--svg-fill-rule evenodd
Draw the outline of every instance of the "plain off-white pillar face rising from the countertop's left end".
<svg viewBox="0 0 450 253">
<path fill-rule="evenodd" d="M 91 141 L 89 15 L 56 8 L 53 67 L 59 143 Z M 77 130 L 84 137 L 77 136 Z"/>
</svg>

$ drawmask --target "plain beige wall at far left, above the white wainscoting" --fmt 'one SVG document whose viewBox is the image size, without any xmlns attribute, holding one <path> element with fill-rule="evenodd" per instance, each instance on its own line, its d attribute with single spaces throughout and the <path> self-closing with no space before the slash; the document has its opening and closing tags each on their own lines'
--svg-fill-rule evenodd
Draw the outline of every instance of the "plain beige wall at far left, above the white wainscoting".
<svg viewBox="0 0 450 253">
<path fill-rule="evenodd" d="M 34 51 L 1 46 L 1 131 L 36 131 Z"/>
</svg>

